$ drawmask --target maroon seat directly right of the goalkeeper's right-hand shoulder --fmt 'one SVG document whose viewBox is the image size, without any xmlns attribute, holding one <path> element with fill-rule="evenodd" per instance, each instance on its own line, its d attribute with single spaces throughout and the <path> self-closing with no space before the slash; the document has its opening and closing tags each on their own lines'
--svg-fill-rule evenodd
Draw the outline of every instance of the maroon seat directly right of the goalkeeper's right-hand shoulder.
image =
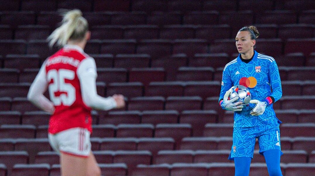
<svg viewBox="0 0 315 176">
<path fill-rule="evenodd" d="M 276 57 L 276 62 L 278 66 L 296 66 L 302 67 L 305 65 L 305 56 L 303 53 L 289 53 L 284 57 Z"/>
</svg>

